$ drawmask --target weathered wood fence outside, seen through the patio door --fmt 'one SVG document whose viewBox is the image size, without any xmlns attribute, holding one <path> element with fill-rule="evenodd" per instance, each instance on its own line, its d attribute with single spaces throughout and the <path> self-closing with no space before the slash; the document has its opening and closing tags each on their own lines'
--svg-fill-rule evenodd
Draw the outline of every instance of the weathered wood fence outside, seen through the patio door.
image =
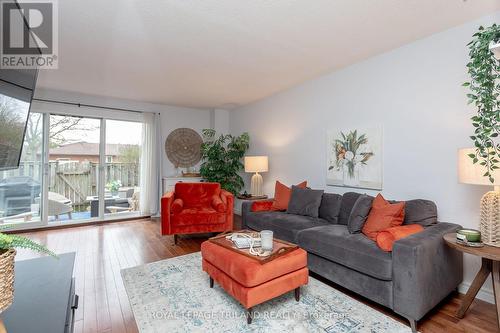
<svg viewBox="0 0 500 333">
<path fill-rule="evenodd" d="M 139 165 L 136 163 L 107 163 L 106 184 L 119 180 L 122 187 L 139 186 Z M 41 162 L 21 162 L 18 169 L 4 171 L 3 177 L 27 176 L 41 183 Z M 49 192 L 59 193 L 73 202 L 75 210 L 86 208 L 88 196 L 98 195 L 99 164 L 92 162 L 49 162 Z"/>
</svg>

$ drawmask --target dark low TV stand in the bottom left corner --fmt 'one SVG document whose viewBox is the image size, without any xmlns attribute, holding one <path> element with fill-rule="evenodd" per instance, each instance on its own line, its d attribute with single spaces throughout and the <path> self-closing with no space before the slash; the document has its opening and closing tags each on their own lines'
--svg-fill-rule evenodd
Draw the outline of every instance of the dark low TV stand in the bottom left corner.
<svg viewBox="0 0 500 333">
<path fill-rule="evenodd" d="M 78 307 L 75 253 L 17 261 L 14 303 L 0 316 L 7 333 L 71 333 Z"/>
</svg>

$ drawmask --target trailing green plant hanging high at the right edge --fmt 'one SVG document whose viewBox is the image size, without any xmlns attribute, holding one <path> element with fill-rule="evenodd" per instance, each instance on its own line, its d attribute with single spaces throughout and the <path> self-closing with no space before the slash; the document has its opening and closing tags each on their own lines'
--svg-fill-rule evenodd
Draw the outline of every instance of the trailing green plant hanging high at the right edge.
<svg viewBox="0 0 500 333">
<path fill-rule="evenodd" d="M 490 50 L 492 43 L 500 41 L 500 26 L 479 27 L 468 44 L 470 62 L 467 70 L 471 80 L 463 86 L 469 87 L 469 104 L 477 108 L 472 125 L 476 152 L 469 154 L 473 163 L 484 166 L 484 177 L 494 182 L 493 172 L 500 168 L 500 61 Z"/>
</svg>

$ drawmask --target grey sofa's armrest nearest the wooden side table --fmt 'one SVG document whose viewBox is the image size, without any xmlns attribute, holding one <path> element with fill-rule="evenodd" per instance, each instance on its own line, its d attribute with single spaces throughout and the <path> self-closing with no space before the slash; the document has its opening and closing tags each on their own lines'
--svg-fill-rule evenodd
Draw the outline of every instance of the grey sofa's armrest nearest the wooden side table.
<svg viewBox="0 0 500 333">
<path fill-rule="evenodd" d="M 462 253 L 443 240 L 461 227 L 438 223 L 394 243 L 392 250 L 393 309 L 419 320 L 463 279 Z"/>
</svg>

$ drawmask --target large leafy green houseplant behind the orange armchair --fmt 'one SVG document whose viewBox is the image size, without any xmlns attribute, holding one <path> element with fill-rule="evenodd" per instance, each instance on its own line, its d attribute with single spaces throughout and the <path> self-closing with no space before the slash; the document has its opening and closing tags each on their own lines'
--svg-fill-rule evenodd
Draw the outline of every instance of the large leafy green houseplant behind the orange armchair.
<svg viewBox="0 0 500 333">
<path fill-rule="evenodd" d="M 201 176 L 210 182 L 220 183 L 226 191 L 238 194 L 244 186 L 239 172 L 243 170 L 241 159 L 250 146 L 250 136 L 243 133 L 240 136 L 221 134 L 217 137 L 213 129 L 204 129 L 203 136 Z"/>
</svg>

